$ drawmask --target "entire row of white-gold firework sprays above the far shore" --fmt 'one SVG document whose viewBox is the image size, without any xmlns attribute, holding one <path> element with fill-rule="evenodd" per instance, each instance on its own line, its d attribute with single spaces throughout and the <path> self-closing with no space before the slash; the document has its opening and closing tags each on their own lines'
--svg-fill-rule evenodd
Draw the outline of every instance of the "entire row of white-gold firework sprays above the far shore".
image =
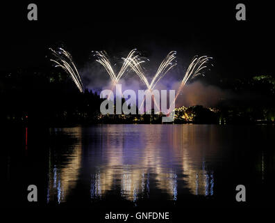
<svg viewBox="0 0 275 223">
<path fill-rule="evenodd" d="M 57 51 L 51 48 L 50 50 L 56 57 L 56 59 L 51 59 L 51 61 L 56 63 L 56 67 L 63 68 L 70 75 L 70 77 L 76 84 L 78 90 L 83 92 L 83 83 L 81 81 L 81 76 L 79 75 L 78 70 L 76 69 L 71 54 L 69 54 L 69 52 L 65 51 L 65 49 L 62 48 L 58 48 Z M 128 70 L 128 67 L 130 67 L 140 77 L 145 86 L 147 86 L 147 90 L 149 90 L 149 92 L 151 93 L 153 92 L 153 89 L 155 89 L 156 84 L 158 84 L 160 79 L 162 79 L 167 74 L 167 72 L 169 72 L 169 70 L 176 66 L 176 52 L 169 52 L 165 59 L 163 59 L 163 61 L 160 63 L 160 66 L 158 67 L 156 74 L 151 79 L 151 82 L 149 82 L 147 77 L 144 75 L 142 66 L 140 65 L 141 63 L 144 63 L 144 61 L 140 59 L 140 55 L 138 54 L 137 49 L 131 50 L 131 52 L 129 52 L 126 58 L 122 58 L 124 63 L 122 64 L 122 67 L 120 68 L 117 75 L 108 59 L 106 52 L 94 52 L 94 56 L 97 56 L 96 61 L 101 63 L 101 65 L 108 72 L 108 75 L 112 79 L 113 86 L 115 86 L 115 84 L 119 82 L 119 79 L 122 77 L 122 75 L 124 75 L 126 70 Z M 197 77 L 197 75 L 200 75 L 201 72 L 207 67 L 206 65 L 210 59 L 213 58 L 210 56 L 195 56 L 194 59 L 192 59 L 190 66 L 188 67 L 183 77 L 183 80 L 181 81 L 181 85 L 179 86 L 178 91 L 176 92 L 176 97 L 174 98 L 172 104 L 169 107 L 169 112 L 172 105 L 174 105 L 174 103 L 176 102 L 176 99 L 178 98 L 178 95 L 181 93 L 183 87 L 188 82 L 188 80 Z M 158 110 L 160 111 L 160 105 L 158 105 L 158 103 L 155 100 L 153 101 Z M 142 102 L 142 105 L 143 104 L 144 100 Z M 142 107 L 142 105 L 140 105 L 140 107 Z"/>
</svg>

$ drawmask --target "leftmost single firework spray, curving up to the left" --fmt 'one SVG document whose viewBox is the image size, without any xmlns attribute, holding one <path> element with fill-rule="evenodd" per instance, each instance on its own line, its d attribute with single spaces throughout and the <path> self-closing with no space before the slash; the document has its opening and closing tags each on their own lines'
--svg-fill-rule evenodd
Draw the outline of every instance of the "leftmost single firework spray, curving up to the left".
<svg viewBox="0 0 275 223">
<path fill-rule="evenodd" d="M 57 51 L 49 48 L 51 52 L 53 53 L 53 56 L 56 57 L 55 60 L 51 59 L 50 61 L 53 61 L 56 63 L 56 67 L 63 68 L 67 72 L 67 74 L 72 78 L 74 81 L 74 84 L 76 84 L 78 90 L 83 93 L 83 83 L 81 81 L 81 77 L 78 73 L 78 70 L 76 69 L 76 66 L 74 65 L 74 61 L 72 60 L 71 54 L 67 52 L 65 49 L 59 47 Z"/>
</svg>

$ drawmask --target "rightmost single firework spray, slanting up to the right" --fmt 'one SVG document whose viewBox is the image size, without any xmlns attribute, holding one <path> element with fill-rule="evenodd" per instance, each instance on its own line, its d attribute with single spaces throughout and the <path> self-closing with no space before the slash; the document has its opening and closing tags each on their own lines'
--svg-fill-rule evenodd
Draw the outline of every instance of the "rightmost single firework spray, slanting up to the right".
<svg viewBox="0 0 275 223">
<path fill-rule="evenodd" d="M 185 86 L 186 82 L 188 82 L 189 79 L 192 79 L 194 77 L 197 77 L 198 75 L 201 75 L 201 71 L 204 68 L 207 68 L 206 64 L 210 59 L 213 59 L 213 57 L 210 56 L 195 56 L 194 59 L 192 59 L 188 70 L 186 70 L 185 75 L 183 77 L 183 80 L 181 81 L 181 85 L 178 88 L 178 91 L 176 93 L 176 97 L 174 98 L 174 101 L 170 105 L 170 108 L 172 105 L 176 102 L 176 98 L 178 98 L 178 95 L 181 93 L 181 90 L 183 89 L 183 86 Z M 170 112 L 169 108 L 169 112 Z M 169 114 L 168 112 L 168 114 Z"/>
</svg>

